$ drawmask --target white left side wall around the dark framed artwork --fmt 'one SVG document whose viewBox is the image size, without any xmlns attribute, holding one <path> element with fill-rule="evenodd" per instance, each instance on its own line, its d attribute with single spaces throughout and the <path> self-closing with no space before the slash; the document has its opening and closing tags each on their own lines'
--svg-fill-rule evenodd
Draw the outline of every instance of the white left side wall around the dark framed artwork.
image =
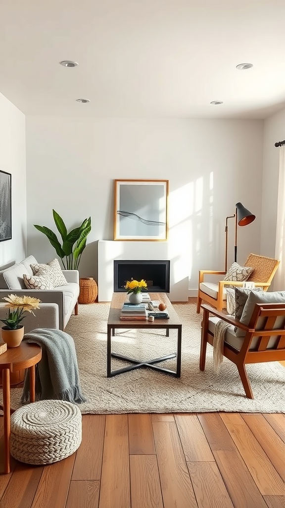
<svg viewBox="0 0 285 508">
<path fill-rule="evenodd" d="M 26 255 L 25 116 L 0 93 L 0 170 L 11 173 L 12 239 L 0 242 L 0 270 Z"/>
</svg>

